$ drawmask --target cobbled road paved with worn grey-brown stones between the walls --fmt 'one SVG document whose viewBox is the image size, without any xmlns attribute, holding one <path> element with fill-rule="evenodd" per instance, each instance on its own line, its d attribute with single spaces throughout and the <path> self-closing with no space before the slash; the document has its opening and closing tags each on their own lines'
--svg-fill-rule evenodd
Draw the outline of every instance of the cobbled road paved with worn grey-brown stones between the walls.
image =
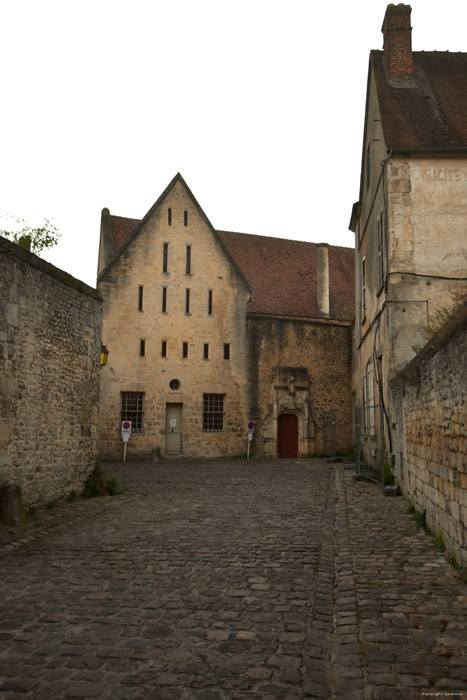
<svg viewBox="0 0 467 700">
<path fill-rule="evenodd" d="M 467 700 L 467 586 L 403 499 L 325 460 L 105 469 L 126 494 L 3 533 L 2 700 Z"/>
</svg>

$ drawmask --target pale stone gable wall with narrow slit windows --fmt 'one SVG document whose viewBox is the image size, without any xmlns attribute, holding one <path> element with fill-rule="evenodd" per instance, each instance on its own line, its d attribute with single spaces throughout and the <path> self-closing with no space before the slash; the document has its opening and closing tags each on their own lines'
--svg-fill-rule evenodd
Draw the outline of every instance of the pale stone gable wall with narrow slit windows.
<svg viewBox="0 0 467 700">
<path fill-rule="evenodd" d="M 150 458 L 153 451 L 162 457 L 245 454 L 249 291 L 181 182 L 151 210 L 98 289 L 110 353 L 101 376 L 100 454 L 122 456 L 122 394 L 128 392 L 141 397 L 143 410 L 129 459 Z M 222 430 L 203 429 L 203 395 L 224 397 Z"/>
</svg>

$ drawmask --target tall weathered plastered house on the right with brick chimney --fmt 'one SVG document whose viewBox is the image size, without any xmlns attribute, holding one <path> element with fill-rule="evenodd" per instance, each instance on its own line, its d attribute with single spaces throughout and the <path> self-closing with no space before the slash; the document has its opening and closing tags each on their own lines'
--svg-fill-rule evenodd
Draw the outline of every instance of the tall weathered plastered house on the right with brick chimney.
<svg viewBox="0 0 467 700">
<path fill-rule="evenodd" d="M 354 402 L 368 461 L 393 452 L 390 382 L 467 292 L 467 54 L 413 52 L 389 5 L 372 51 L 355 232 Z M 379 420 L 382 406 L 383 421 Z"/>
</svg>

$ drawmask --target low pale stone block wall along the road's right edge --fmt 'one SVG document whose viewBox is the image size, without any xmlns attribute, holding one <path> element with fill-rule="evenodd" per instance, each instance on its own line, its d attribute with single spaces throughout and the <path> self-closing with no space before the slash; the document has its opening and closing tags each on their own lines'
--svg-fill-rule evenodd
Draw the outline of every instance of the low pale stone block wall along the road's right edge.
<svg viewBox="0 0 467 700">
<path fill-rule="evenodd" d="M 396 476 L 467 565 L 467 303 L 392 384 Z"/>
</svg>

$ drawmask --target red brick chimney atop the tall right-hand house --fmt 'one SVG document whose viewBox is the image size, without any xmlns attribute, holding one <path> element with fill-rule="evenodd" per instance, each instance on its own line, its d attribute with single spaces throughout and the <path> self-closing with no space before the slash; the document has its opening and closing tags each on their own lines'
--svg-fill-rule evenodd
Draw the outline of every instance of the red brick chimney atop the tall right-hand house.
<svg viewBox="0 0 467 700">
<path fill-rule="evenodd" d="M 381 31 L 384 37 L 384 65 L 392 87 L 413 85 L 412 27 L 410 5 L 388 5 Z"/>
</svg>

